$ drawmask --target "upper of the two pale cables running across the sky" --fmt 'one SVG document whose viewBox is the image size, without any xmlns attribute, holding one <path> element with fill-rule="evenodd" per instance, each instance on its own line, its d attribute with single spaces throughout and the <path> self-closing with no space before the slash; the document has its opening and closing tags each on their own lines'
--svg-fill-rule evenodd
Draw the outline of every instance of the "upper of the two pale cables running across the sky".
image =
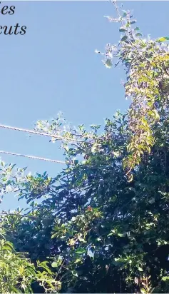
<svg viewBox="0 0 169 294">
<path fill-rule="evenodd" d="M 40 136 L 47 136 L 47 137 L 51 137 L 51 138 L 57 138 L 58 140 L 66 140 L 66 141 L 74 141 L 74 142 L 79 142 L 79 143 L 83 143 L 83 141 L 75 139 L 75 138 L 65 138 L 63 136 L 58 136 L 58 135 L 51 135 L 49 133 L 41 133 L 39 131 L 32 131 L 26 128 L 16 128 L 14 126 L 6 126 L 6 125 L 1 125 L 0 124 L 0 128 L 8 128 L 9 130 L 13 130 L 13 131 L 21 131 L 21 132 L 25 132 L 25 133 L 34 133 L 36 135 L 40 135 Z M 62 130 L 58 130 L 58 131 L 62 131 Z"/>
</svg>

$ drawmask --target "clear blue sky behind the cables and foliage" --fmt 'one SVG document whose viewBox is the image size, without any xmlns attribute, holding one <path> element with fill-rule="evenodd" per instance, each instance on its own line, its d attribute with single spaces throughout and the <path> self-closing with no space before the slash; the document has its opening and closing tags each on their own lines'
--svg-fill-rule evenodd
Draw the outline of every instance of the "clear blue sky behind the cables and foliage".
<svg viewBox="0 0 169 294">
<path fill-rule="evenodd" d="M 103 123 L 117 109 L 125 111 L 122 69 L 106 69 L 95 49 L 116 44 L 118 26 L 104 15 L 116 16 L 106 1 L 2 1 L 15 5 L 12 16 L 0 15 L 0 25 L 26 25 L 26 35 L 0 35 L 0 123 L 33 128 L 39 119 L 58 111 L 73 123 Z M 121 2 L 118 2 L 121 4 Z M 169 35 L 169 1 L 124 1 L 123 9 L 133 9 L 145 36 Z M 57 146 L 47 138 L 0 129 L 0 150 L 61 159 Z M 43 161 L 1 156 L 6 162 L 28 171 L 55 176 L 62 166 Z M 23 203 L 22 203 L 23 204 Z M 6 196 L 1 209 L 22 204 Z"/>
</svg>

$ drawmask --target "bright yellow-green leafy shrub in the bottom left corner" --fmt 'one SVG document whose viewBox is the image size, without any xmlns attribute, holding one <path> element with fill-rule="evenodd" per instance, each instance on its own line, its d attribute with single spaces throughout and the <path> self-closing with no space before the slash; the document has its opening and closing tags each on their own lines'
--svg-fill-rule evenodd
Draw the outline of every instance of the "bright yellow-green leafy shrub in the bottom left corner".
<svg viewBox="0 0 169 294">
<path fill-rule="evenodd" d="M 56 292 L 60 283 L 46 263 L 36 267 L 26 258 L 26 254 L 16 253 L 13 245 L 6 241 L 1 230 L 0 240 L 0 290 L 1 293 L 33 293 L 32 285 L 46 293 Z M 43 268 L 43 273 L 41 273 Z M 33 286 L 34 288 L 34 286 Z"/>
</svg>

